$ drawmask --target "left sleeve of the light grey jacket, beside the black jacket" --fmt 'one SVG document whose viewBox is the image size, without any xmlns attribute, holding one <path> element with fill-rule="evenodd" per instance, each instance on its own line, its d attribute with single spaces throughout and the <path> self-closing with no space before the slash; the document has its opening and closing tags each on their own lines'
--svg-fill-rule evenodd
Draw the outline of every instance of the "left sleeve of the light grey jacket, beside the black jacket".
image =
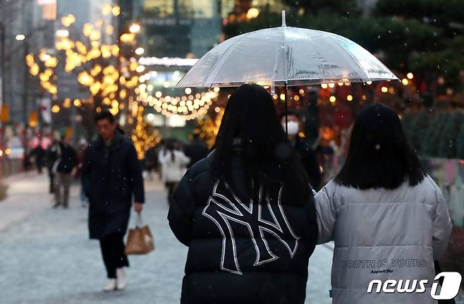
<svg viewBox="0 0 464 304">
<path fill-rule="evenodd" d="M 327 243 L 334 240 L 336 221 L 336 209 L 327 185 L 315 195 L 315 203 L 318 226 L 317 243 Z"/>
</svg>

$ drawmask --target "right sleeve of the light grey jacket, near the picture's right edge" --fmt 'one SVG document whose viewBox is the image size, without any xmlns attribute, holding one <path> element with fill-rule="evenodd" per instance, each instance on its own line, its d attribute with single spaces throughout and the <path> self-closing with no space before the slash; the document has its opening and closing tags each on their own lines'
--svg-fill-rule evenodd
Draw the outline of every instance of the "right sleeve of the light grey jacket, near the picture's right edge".
<svg viewBox="0 0 464 304">
<path fill-rule="evenodd" d="M 438 186 L 436 186 L 435 193 L 436 207 L 433 218 L 432 246 L 434 250 L 434 260 L 439 260 L 446 252 L 453 225 L 451 224 L 451 219 L 448 214 L 445 198 Z"/>
</svg>

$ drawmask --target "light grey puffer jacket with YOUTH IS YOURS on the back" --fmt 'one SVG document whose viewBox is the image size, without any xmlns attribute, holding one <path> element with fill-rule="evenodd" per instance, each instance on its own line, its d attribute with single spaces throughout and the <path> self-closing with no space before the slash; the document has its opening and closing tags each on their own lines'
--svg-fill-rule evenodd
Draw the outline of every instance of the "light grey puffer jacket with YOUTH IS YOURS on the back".
<svg viewBox="0 0 464 304">
<path fill-rule="evenodd" d="M 432 178 L 394 190 L 359 190 L 332 180 L 315 199 L 318 243 L 335 243 L 332 303 L 435 303 L 430 296 L 434 260 L 444 255 L 451 219 Z M 372 279 L 403 279 L 403 284 L 428 279 L 429 284 L 425 293 L 375 293 L 377 284 L 367 293 Z"/>
</svg>

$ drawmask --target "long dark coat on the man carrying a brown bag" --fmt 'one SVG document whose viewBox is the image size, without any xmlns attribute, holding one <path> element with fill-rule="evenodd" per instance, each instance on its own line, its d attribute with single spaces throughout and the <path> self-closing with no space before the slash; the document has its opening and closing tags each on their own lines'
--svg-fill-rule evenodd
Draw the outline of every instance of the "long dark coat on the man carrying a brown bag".
<svg viewBox="0 0 464 304">
<path fill-rule="evenodd" d="M 90 238 L 126 233 L 132 197 L 145 202 L 142 169 L 133 143 L 119 133 L 109 146 L 101 138 L 92 142 L 85 150 L 82 181 L 90 200 Z"/>
</svg>

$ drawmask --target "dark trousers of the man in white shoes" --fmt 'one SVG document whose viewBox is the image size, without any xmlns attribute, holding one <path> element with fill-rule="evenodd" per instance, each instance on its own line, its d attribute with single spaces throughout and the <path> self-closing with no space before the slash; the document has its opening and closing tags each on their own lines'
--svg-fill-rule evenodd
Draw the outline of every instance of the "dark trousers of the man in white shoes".
<svg viewBox="0 0 464 304">
<path fill-rule="evenodd" d="M 124 235 L 122 233 L 111 233 L 100 238 L 103 262 L 109 279 L 116 279 L 116 269 L 128 267 L 129 261 L 124 254 Z"/>
</svg>

